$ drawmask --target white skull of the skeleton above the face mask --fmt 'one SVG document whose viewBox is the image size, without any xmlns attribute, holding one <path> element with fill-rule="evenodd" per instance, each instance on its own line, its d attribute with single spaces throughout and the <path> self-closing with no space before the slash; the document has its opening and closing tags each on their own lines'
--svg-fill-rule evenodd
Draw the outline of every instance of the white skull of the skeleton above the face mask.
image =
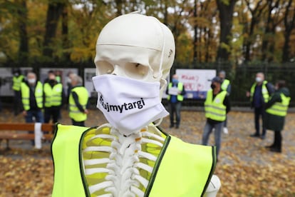
<svg viewBox="0 0 295 197">
<path fill-rule="evenodd" d="M 162 82 L 174 58 L 175 41 L 167 26 L 152 16 L 125 14 L 106 24 L 98 36 L 96 74 Z"/>
</svg>

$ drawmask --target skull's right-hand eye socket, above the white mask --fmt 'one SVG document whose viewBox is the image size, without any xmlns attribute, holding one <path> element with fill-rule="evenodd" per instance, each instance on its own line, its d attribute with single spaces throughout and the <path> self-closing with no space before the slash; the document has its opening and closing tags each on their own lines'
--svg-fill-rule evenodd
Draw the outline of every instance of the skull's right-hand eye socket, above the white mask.
<svg viewBox="0 0 295 197">
<path fill-rule="evenodd" d="M 148 75 L 149 67 L 138 63 L 126 63 L 124 66 L 126 76 L 133 79 L 143 79 Z"/>
</svg>

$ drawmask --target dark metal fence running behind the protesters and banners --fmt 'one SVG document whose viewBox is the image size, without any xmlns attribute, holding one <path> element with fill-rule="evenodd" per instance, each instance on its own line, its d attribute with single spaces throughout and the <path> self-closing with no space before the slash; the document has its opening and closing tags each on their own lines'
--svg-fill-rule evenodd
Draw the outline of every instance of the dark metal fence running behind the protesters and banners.
<svg viewBox="0 0 295 197">
<path fill-rule="evenodd" d="M 85 66 L 86 65 L 86 66 Z M 1 67 L 15 67 L 16 65 L 1 65 Z M 48 67 L 53 65 L 45 65 L 42 67 Z M 54 65 L 59 67 L 60 64 Z M 31 65 L 31 67 L 38 74 L 38 68 L 40 64 Z M 63 67 L 68 67 L 63 64 Z M 71 64 L 71 68 L 77 68 L 79 75 L 83 76 L 85 68 L 94 68 L 93 64 Z M 229 63 L 208 63 L 208 64 L 191 64 L 191 65 L 180 65 L 175 64 L 172 66 L 171 74 L 175 73 L 176 69 L 215 69 L 218 71 L 224 70 L 227 73 L 227 79 L 231 81 L 232 93 L 230 95 L 230 101 L 232 106 L 249 106 L 249 98 L 246 97 L 246 91 L 249 91 L 252 84 L 254 83 L 255 75 L 257 72 L 263 72 L 266 81 L 275 84 L 279 79 L 284 79 L 287 82 L 287 86 L 291 93 L 290 106 L 295 106 L 295 63 L 289 64 L 241 64 L 234 66 Z M 6 100 L 6 99 L 4 99 Z M 11 101 L 8 99 L 6 101 Z M 95 98 L 93 99 L 95 101 Z M 167 103 L 165 99 L 162 101 Z M 204 101 L 196 99 L 186 99 L 183 103 L 184 106 L 203 106 Z"/>
</svg>

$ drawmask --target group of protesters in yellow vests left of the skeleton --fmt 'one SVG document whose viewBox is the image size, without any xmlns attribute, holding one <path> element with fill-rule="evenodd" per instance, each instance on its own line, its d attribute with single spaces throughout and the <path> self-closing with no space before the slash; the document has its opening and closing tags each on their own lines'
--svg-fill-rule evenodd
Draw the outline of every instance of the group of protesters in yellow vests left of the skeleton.
<svg viewBox="0 0 295 197">
<path fill-rule="evenodd" d="M 61 118 L 61 108 L 67 106 L 73 125 L 85 126 L 88 91 L 81 76 L 68 73 L 66 90 L 58 71 L 48 71 L 43 82 L 33 71 L 23 75 L 20 69 L 15 69 L 13 74 L 15 116 L 22 113 L 26 123 L 57 123 Z"/>
</svg>

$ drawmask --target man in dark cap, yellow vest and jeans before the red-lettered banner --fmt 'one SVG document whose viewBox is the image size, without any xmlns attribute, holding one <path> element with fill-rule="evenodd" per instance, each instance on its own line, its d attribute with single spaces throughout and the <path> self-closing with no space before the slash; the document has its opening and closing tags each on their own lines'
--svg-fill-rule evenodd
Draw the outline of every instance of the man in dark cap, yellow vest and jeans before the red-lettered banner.
<svg viewBox="0 0 295 197">
<path fill-rule="evenodd" d="M 224 120 L 230 111 L 230 102 L 227 91 L 221 89 L 221 79 L 215 76 L 212 79 L 211 89 L 207 91 L 205 100 L 205 116 L 207 118 L 204 132 L 202 135 L 202 144 L 207 145 L 209 135 L 214 128 L 214 142 L 217 148 L 217 158 L 221 147 L 222 130 Z"/>
</svg>

